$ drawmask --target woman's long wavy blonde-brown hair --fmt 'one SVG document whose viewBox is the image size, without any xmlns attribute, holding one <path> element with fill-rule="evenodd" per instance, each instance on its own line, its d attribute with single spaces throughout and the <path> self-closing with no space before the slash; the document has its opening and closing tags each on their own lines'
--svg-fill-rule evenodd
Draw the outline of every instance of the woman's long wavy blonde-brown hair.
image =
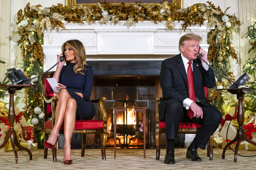
<svg viewBox="0 0 256 170">
<path fill-rule="evenodd" d="M 73 49 L 74 57 L 77 60 L 76 65 L 74 65 L 73 67 L 73 71 L 75 73 L 84 74 L 82 73 L 82 70 L 84 70 L 84 65 L 86 65 L 86 54 L 83 43 L 77 39 L 68 40 L 62 45 L 62 51 L 64 51 L 66 45 L 70 46 Z M 66 64 L 69 65 L 69 62 L 66 61 Z"/>
</svg>

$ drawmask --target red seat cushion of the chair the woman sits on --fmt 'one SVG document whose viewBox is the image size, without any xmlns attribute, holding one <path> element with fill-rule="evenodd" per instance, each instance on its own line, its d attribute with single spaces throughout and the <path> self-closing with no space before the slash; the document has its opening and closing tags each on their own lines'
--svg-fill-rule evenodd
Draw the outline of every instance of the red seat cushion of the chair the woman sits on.
<svg viewBox="0 0 256 170">
<path fill-rule="evenodd" d="M 103 129 L 104 122 L 101 120 L 76 120 L 75 129 Z M 46 129 L 52 129 L 52 120 L 45 122 Z M 64 124 L 61 125 L 60 129 L 64 129 Z"/>
</svg>

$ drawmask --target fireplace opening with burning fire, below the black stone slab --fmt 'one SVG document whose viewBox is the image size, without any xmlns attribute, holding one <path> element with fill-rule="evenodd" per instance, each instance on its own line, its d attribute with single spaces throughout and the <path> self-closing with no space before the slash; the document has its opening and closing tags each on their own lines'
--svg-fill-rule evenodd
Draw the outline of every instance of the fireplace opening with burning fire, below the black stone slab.
<svg viewBox="0 0 256 170">
<path fill-rule="evenodd" d="M 143 147 L 143 131 L 146 133 L 146 147 L 152 144 L 152 114 L 155 113 L 156 83 L 159 76 L 94 76 L 94 95 L 104 96 L 107 112 L 107 146 L 117 148 Z M 117 134 L 113 129 L 113 107 L 147 107 L 146 123 L 143 115 L 134 109 L 127 109 L 117 114 Z M 153 117 L 155 119 L 155 117 Z"/>
</svg>

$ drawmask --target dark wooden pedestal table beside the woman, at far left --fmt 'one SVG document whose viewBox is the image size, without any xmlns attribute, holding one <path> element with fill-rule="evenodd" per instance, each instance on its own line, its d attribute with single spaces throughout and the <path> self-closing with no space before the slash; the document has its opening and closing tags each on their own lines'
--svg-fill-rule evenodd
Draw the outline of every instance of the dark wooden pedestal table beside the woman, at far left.
<svg viewBox="0 0 256 170">
<path fill-rule="evenodd" d="M 0 149 L 4 148 L 4 146 L 7 144 L 8 139 L 11 139 L 11 147 L 15 155 L 15 161 L 16 164 L 18 164 L 18 154 L 15 148 L 15 145 L 22 149 L 26 150 L 29 154 L 30 160 L 32 160 L 32 153 L 28 148 L 25 148 L 20 145 L 17 139 L 17 134 L 15 130 L 13 129 L 13 123 L 15 121 L 15 111 L 14 111 L 14 99 L 13 99 L 13 94 L 15 93 L 16 90 L 21 90 L 21 89 L 27 89 L 30 87 L 36 87 L 36 85 L 33 84 L 0 84 L 0 89 L 1 90 L 8 90 L 8 93 L 10 94 L 10 104 L 9 104 L 9 112 L 8 112 L 8 121 L 9 121 L 9 129 L 6 132 L 5 138 L 4 138 L 4 143 L 0 145 Z"/>
</svg>

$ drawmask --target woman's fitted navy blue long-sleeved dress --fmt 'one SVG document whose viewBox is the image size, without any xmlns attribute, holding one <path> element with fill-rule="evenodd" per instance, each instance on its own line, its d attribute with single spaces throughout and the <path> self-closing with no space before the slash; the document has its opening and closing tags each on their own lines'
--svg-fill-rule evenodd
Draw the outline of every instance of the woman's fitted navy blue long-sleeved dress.
<svg viewBox="0 0 256 170">
<path fill-rule="evenodd" d="M 77 102 L 76 119 L 90 120 L 95 115 L 95 107 L 91 102 L 91 90 L 93 86 L 93 69 L 89 65 L 84 65 L 84 74 L 76 74 L 73 67 L 76 63 L 64 65 L 60 72 L 59 83 L 66 86 L 70 96 Z M 77 93 L 82 93 L 83 98 Z"/>
</svg>

